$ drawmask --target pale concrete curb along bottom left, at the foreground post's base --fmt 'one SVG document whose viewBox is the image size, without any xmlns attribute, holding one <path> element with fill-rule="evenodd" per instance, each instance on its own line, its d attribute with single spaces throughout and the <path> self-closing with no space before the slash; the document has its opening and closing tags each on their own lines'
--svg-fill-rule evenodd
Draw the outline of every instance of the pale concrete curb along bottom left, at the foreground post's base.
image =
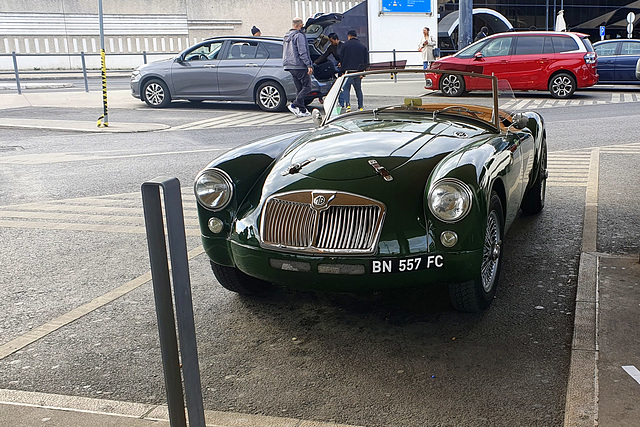
<svg viewBox="0 0 640 427">
<path fill-rule="evenodd" d="M 167 407 L 162 405 L 20 390 L 0 389 L 0 406 L 2 405 L 28 407 L 31 408 L 32 411 L 38 409 L 53 411 L 52 413 L 55 414 L 58 425 L 66 426 L 90 425 L 95 423 L 95 418 L 98 416 L 113 417 L 109 420 L 109 425 L 114 426 L 128 426 L 131 424 L 132 419 L 146 420 L 149 421 L 149 424 L 151 424 L 151 422 L 166 422 L 169 420 Z M 26 416 L 29 416 L 28 414 L 32 411 L 26 411 Z M 9 411 L 2 412 L 6 414 L 5 416 L 10 416 L 10 414 L 8 414 Z M 79 416 L 82 417 L 82 422 L 78 422 Z M 0 421 L 2 421 L 2 418 L 3 416 L 0 415 Z M 26 422 L 21 422 L 20 419 L 16 419 L 15 416 L 9 419 L 12 425 L 27 424 Z M 346 424 L 306 421 L 297 418 L 279 418 L 220 411 L 205 411 L 205 419 L 207 425 L 216 427 L 354 427 Z M 74 422 L 71 420 L 74 420 Z"/>
</svg>

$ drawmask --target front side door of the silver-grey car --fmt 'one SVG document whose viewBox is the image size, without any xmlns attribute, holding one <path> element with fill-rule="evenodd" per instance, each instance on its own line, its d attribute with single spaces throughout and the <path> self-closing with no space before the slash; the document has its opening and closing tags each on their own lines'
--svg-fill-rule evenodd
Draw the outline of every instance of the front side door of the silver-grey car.
<svg viewBox="0 0 640 427">
<path fill-rule="evenodd" d="M 223 43 L 207 41 L 180 55 L 171 66 L 174 97 L 199 99 L 218 94 L 218 56 Z"/>
</svg>

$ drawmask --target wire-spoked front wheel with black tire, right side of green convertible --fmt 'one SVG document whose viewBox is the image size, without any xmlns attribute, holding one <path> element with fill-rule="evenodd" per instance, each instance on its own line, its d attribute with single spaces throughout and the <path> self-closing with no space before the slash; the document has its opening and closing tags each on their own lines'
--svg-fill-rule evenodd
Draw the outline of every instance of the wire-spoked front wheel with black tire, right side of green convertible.
<svg viewBox="0 0 640 427">
<path fill-rule="evenodd" d="M 502 268 L 504 213 L 500 197 L 491 193 L 485 230 L 482 265 L 475 279 L 449 285 L 449 298 L 456 310 L 478 313 L 493 302 Z"/>
</svg>

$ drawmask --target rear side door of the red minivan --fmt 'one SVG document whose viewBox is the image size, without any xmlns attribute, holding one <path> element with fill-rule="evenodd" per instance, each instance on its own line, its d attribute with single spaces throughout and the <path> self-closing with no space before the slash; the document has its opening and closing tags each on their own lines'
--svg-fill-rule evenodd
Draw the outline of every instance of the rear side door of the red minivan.
<svg viewBox="0 0 640 427">
<path fill-rule="evenodd" d="M 509 83 L 513 89 L 546 89 L 553 45 L 548 36 L 515 37 Z"/>
</svg>

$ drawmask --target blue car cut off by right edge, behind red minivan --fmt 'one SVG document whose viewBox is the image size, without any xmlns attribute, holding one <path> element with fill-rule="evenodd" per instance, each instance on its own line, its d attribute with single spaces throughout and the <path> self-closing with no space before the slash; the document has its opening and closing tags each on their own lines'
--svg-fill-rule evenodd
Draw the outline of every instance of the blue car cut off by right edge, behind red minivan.
<svg viewBox="0 0 640 427">
<path fill-rule="evenodd" d="M 640 84 L 640 40 L 614 39 L 593 44 L 598 55 L 598 83 Z"/>
</svg>

